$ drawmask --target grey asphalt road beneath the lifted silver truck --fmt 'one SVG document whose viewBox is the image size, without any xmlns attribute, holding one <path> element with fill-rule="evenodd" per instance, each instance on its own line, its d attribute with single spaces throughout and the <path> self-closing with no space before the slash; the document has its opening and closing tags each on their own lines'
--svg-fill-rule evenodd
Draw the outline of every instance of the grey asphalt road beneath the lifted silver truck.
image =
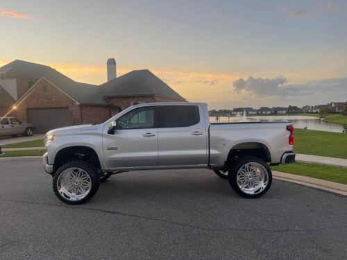
<svg viewBox="0 0 347 260">
<path fill-rule="evenodd" d="M 0 259 L 346 259 L 347 198 L 273 181 L 244 199 L 207 170 L 121 173 L 84 205 L 40 160 L 0 161 Z"/>
</svg>

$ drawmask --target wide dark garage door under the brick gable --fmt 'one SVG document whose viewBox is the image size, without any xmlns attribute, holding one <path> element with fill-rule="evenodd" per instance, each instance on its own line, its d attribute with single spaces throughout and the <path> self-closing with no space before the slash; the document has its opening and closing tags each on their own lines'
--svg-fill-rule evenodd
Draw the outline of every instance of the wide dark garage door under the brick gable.
<svg viewBox="0 0 347 260">
<path fill-rule="evenodd" d="M 33 123 L 37 134 L 45 134 L 54 128 L 69 125 L 69 110 L 67 108 L 30 108 L 27 110 L 27 119 Z"/>
</svg>

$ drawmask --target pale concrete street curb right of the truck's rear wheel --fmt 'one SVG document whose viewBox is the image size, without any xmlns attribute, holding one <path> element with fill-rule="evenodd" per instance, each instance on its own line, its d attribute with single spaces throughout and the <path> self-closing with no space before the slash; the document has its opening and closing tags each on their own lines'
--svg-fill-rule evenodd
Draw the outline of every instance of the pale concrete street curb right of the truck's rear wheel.
<svg viewBox="0 0 347 260">
<path fill-rule="evenodd" d="M 347 196 L 347 185 L 337 182 L 329 182 L 328 180 L 321 180 L 312 177 L 306 177 L 302 175 L 295 175 L 291 173 L 282 173 L 280 171 L 273 171 L 273 177 L 277 180 L 283 180 L 285 182 L 293 182 L 301 184 L 307 187 L 316 189 L 322 189 L 324 191 L 330 191 L 343 196 Z"/>
</svg>

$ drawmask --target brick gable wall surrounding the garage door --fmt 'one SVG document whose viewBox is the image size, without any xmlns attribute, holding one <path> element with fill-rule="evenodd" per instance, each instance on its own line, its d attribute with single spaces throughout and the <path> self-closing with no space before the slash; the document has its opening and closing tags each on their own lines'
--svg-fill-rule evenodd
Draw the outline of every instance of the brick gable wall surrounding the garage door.
<svg viewBox="0 0 347 260">
<path fill-rule="evenodd" d="M 46 92 L 44 91 L 46 86 Z M 81 124 L 81 107 L 76 102 L 63 94 L 59 89 L 42 78 L 35 88 L 17 105 L 17 117 L 26 122 L 26 110 L 28 108 L 54 108 L 67 107 L 71 125 Z"/>
</svg>

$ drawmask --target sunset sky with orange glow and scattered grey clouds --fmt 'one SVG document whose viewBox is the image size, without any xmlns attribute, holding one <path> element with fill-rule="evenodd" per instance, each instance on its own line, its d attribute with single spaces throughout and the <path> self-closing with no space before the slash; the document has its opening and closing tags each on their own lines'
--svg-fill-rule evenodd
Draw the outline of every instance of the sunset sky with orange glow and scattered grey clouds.
<svg viewBox="0 0 347 260">
<path fill-rule="evenodd" d="M 150 69 L 210 109 L 347 101 L 347 1 L 2 1 L 0 66 Z"/>
</svg>

